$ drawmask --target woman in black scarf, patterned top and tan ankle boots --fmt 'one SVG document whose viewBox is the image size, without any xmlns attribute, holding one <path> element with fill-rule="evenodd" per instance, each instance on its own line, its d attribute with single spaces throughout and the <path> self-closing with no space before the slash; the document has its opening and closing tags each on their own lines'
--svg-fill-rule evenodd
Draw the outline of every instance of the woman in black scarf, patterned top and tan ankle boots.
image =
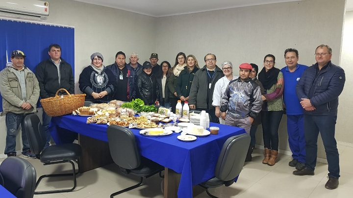
<svg viewBox="0 0 353 198">
<path fill-rule="evenodd" d="M 275 66 L 275 56 L 268 54 L 264 58 L 264 68 L 259 80 L 265 88 L 262 95 L 261 123 L 265 147 L 263 164 L 275 165 L 278 155 L 278 126 L 283 114 L 282 92 L 283 74 Z"/>
</svg>

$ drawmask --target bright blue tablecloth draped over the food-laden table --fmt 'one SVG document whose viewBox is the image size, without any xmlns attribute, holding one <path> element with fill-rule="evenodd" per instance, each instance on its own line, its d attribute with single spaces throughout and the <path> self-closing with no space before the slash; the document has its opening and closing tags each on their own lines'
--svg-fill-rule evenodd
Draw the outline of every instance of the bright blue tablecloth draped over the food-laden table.
<svg viewBox="0 0 353 198">
<path fill-rule="evenodd" d="M 67 142 L 66 134 L 58 132 L 57 127 L 107 142 L 107 125 L 86 124 L 86 119 L 86 117 L 71 115 L 53 117 L 50 132 L 55 143 Z M 192 186 L 214 176 L 218 156 L 227 138 L 245 133 L 242 128 L 216 123 L 210 123 L 210 126 L 219 127 L 219 134 L 198 137 L 193 142 L 178 140 L 176 138 L 178 133 L 147 137 L 141 135 L 140 130 L 131 129 L 131 131 L 135 134 L 142 156 L 181 174 L 178 197 L 192 198 Z"/>
</svg>

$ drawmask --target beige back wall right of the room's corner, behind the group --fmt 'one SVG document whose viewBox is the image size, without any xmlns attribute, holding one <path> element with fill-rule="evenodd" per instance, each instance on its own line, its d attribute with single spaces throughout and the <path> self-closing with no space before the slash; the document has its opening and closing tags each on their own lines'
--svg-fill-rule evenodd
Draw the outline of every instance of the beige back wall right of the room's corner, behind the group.
<svg viewBox="0 0 353 198">
<path fill-rule="evenodd" d="M 299 63 L 311 66 L 316 46 L 328 44 L 335 52 L 332 62 L 338 64 L 344 7 L 345 0 L 305 0 L 162 17 L 157 19 L 160 44 L 156 51 L 172 61 L 179 51 L 191 53 L 199 65 L 204 65 L 206 53 L 214 53 L 218 65 L 230 60 L 235 68 L 250 62 L 261 69 L 266 54 L 276 56 L 276 67 L 285 66 L 283 53 L 290 47 L 299 50 Z M 237 69 L 234 71 L 237 74 Z M 341 108 L 338 123 L 344 117 Z M 346 142 L 341 137 L 349 136 L 349 130 L 340 129 L 337 127 L 337 133 L 342 134 L 337 135 L 337 140 Z M 256 143 L 263 145 L 261 132 L 259 126 Z M 279 149 L 290 151 L 287 139 L 284 115 L 279 127 Z M 326 158 L 322 151 L 319 157 Z"/>
</svg>

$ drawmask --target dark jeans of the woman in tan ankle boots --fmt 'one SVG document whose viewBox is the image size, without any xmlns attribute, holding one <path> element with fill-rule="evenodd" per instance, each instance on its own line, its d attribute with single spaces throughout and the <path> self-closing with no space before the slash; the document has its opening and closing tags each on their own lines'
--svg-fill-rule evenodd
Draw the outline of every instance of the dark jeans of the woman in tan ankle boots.
<svg viewBox="0 0 353 198">
<path fill-rule="evenodd" d="M 278 127 L 282 119 L 282 110 L 261 111 L 264 147 L 278 151 Z"/>
</svg>

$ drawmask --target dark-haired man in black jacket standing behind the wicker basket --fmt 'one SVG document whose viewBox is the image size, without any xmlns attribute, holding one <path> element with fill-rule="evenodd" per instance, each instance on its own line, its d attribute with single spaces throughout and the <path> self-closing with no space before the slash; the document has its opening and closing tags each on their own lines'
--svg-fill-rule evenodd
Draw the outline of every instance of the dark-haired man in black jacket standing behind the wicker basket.
<svg viewBox="0 0 353 198">
<path fill-rule="evenodd" d="M 69 93 L 74 94 L 75 82 L 71 65 L 61 56 L 61 47 L 58 44 L 50 44 L 48 48 L 50 59 L 42 61 L 36 66 L 36 77 L 40 88 L 40 97 L 49 98 L 55 96 L 60 88 L 65 88 Z M 65 92 L 59 94 L 66 94 Z M 43 131 L 46 133 L 47 144 L 50 142 L 49 124 L 51 117 L 43 110 Z"/>
</svg>

